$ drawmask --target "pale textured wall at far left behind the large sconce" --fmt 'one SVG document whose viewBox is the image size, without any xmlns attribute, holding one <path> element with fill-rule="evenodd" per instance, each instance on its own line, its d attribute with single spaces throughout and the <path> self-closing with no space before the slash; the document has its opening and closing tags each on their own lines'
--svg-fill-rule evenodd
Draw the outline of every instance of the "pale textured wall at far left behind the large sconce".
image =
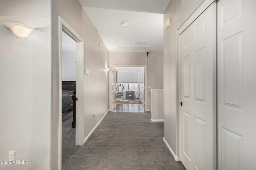
<svg viewBox="0 0 256 170">
<path fill-rule="evenodd" d="M 3 170 L 50 169 L 51 47 L 50 0 L 0 1 L 0 164 Z M 35 27 L 27 39 L 15 37 L 3 24 Z"/>
</svg>

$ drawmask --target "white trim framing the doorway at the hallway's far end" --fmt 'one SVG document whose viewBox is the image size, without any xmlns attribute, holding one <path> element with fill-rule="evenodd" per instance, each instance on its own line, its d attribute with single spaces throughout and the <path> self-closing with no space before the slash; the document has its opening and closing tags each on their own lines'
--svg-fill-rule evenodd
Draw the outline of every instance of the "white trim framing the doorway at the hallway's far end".
<svg viewBox="0 0 256 170">
<path fill-rule="evenodd" d="M 146 88 L 147 88 L 147 66 L 145 65 L 111 65 L 110 66 L 110 70 L 112 70 L 113 67 L 144 67 L 144 111 L 147 108 L 147 93 L 146 93 Z M 109 74 L 109 96 L 110 96 L 110 100 L 109 100 L 109 106 L 110 106 L 110 111 L 112 110 L 112 72 L 110 72 Z"/>
</svg>

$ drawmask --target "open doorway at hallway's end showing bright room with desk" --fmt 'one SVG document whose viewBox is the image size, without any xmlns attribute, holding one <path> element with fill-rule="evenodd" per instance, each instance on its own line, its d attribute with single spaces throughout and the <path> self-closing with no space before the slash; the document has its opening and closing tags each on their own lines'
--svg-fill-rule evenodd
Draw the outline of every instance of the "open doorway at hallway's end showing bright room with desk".
<svg viewBox="0 0 256 170">
<path fill-rule="evenodd" d="M 112 66 L 112 111 L 144 112 L 144 75 L 144 66 Z"/>
</svg>

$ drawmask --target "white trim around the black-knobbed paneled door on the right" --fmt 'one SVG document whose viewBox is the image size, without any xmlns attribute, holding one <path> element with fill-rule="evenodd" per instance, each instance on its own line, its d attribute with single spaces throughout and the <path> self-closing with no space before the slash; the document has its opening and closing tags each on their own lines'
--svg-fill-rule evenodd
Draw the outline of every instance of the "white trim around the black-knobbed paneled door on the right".
<svg viewBox="0 0 256 170">
<path fill-rule="evenodd" d="M 205 0 L 195 11 L 194 13 L 186 20 L 184 21 L 184 23 L 182 23 L 182 25 L 180 25 L 180 27 L 177 28 L 176 30 L 176 43 L 177 43 L 177 46 L 176 46 L 176 156 L 178 156 L 178 161 L 180 161 L 180 86 L 181 86 L 181 80 L 180 80 L 180 63 L 179 63 L 179 35 L 194 21 L 196 20 L 196 18 L 198 18 L 198 16 L 200 16 L 212 3 L 216 3 L 216 0 Z M 216 4 L 215 4 L 216 6 Z M 216 21 L 216 15 L 214 16 L 214 20 Z M 216 37 L 216 28 L 217 28 L 217 25 L 216 25 L 216 22 L 215 22 L 215 25 L 213 27 L 213 29 L 215 30 L 215 37 Z M 214 44 L 214 49 L 216 49 L 216 39 L 215 39 L 215 42 L 213 42 Z M 216 50 L 213 51 L 214 52 L 214 55 L 216 56 Z M 215 65 L 216 65 L 216 61 L 213 61 L 215 62 Z M 214 69 L 214 72 L 216 73 L 216 68 L 213 68 Z M 215 80 L 216 80 L 216 74 L 213 75 L 213 77 L 215 77 Z M 214 101 L 214 105 L 213 105 L 213 111 L 214 113 L 216 113 L 216 109 L 217 109 L 217 106 L 216 106 L 216 83 L 213 84 L 213 94 L 214 95 L 214 98 L 213 98 L 213 101 Z M 216 139 L 216 142 L 213 143 L 214 145 L 214 159 L 213 160 L 213 169 L 216 170 L 216 166 L 217 166 L 217 127 L 216 127 L 216 123 L 217 120 L 216 120 L 216 115 L 214 117 L 214 122 L 213 122 L 213 125 L 214 125 L 214 139 Z"/>
</svg>

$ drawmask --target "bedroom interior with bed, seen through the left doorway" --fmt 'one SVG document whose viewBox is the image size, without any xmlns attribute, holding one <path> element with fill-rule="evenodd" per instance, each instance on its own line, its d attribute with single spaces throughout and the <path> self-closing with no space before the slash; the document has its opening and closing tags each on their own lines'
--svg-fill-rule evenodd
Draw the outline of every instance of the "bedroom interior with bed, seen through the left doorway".
<svg viewBox="0 0 256 170">
<path fill-rule="evenodd" d="M 76 134 L 76 42 L 62 31 L 62 163 Z M 74 97 L 73 97 L 74 96 Z"/>
</svg>

